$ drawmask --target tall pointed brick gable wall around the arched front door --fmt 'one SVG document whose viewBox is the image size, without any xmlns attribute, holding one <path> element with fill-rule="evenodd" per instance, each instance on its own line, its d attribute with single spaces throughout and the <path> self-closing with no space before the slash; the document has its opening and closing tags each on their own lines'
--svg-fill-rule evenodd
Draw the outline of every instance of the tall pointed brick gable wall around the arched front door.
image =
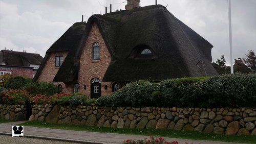
<svg viewBox="0 0 256 144">
<path fill-rule="evenodd" d="M 93 44 L 98 42 L 100 45 L 100 58 L 99 60 L 93 60 Z M 91 32 L 87 39 L 86 45 L 84 46 L 82 55 L 80 57 L 80 70 L 78 73 L 78 84 L 79 92 L 85 93 L 91 97 L 91 81 L 93 78 L 103 79 L 106 69 L 109 67 L 111 62 L 111 55 L 105 45 L 103 37 L 94 23 Z M 107 85 L 107 89 L 104 89 L 104 85 Z M 86 90 L 84 90 L 86 85 Z M 112 83 L 102 82 L 101 83 L 101 95 L 112 93 Z"/>
</svg>

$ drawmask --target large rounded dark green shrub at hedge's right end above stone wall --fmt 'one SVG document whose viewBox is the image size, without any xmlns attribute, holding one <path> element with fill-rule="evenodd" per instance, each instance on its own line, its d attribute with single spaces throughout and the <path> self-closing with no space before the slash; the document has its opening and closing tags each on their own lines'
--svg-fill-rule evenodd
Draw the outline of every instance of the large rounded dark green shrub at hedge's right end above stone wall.
<svg viewBox="0 0 256 144">
<path fill-rule="evenodd" d="M 204 107 L 253 106 L 256 103 L 256 75 L 212 77 L 198 86 L 195 97 Z"/>
</svg>

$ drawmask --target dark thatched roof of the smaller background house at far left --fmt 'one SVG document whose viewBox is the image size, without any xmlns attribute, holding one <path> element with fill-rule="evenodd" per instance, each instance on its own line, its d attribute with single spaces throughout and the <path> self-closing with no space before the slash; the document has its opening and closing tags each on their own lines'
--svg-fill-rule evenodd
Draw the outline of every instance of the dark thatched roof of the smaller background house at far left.
<svg viewBox="0 0 256 144">
<path fill-rule="evenodd" d="M 2 50 L 0 52 L 0 63 L 4 63 L 9 66 L 29 67 L 30 64 L 40 65 L 42 59 L 43 58 L 39 54 L 9 50 Z"/>
</svg>

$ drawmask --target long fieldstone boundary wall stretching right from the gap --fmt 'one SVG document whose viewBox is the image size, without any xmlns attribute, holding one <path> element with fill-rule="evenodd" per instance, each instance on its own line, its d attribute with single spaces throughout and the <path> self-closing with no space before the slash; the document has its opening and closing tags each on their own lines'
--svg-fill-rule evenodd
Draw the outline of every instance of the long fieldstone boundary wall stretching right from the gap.
<svg viewBox="0 0 256 144">
<path fill-rule="evenodd" d="M 35 105 L 32 113 L 30 121 L 59 124 L 256 135 L 256 108 L 133 108 L 58 105 L 52 108 L 49 105 Z"/>
</svg>

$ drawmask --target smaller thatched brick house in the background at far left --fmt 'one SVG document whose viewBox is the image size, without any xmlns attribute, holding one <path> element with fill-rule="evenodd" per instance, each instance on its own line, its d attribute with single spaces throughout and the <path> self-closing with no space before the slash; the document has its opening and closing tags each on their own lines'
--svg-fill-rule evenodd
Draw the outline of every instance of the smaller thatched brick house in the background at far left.
<svg viewBox="0 0 256 144">
<path fill-rule="evenodd" d="M 0 51 L 0 76 L 11 74 L 34 78 L 43 59 L 39 54 L 2 50 Z"/>
</svg>

